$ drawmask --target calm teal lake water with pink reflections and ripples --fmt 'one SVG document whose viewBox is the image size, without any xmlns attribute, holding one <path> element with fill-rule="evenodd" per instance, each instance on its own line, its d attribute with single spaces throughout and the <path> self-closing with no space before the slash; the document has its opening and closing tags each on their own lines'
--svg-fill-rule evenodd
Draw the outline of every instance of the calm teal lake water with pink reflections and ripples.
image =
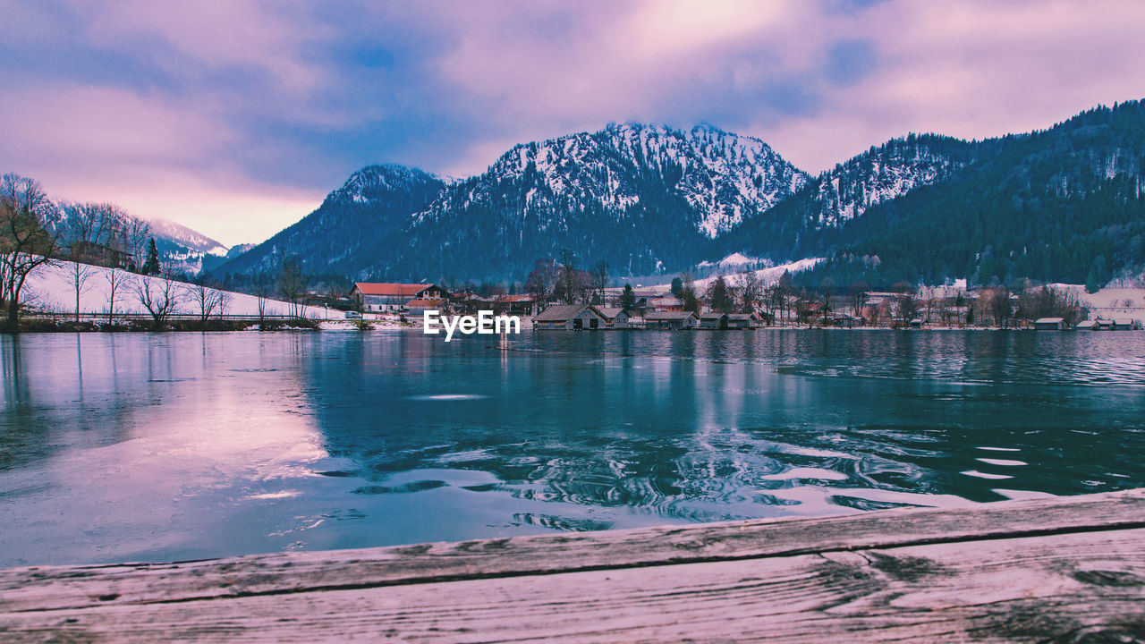
<svg viewBox="0 0 1145 644">
<path fill-rule="evenodd" d="M 0 337 L 0 566 L 1145 486 L 1142 332 Z"/>
</svg>

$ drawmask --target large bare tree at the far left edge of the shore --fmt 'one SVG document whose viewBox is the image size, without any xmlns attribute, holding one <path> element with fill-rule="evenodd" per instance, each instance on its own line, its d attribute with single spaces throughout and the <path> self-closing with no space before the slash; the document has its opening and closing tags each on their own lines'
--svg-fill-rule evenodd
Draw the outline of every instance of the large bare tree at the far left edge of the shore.
<svg viewBox="0 0 1145 644">
<path fill-rule="evenodd" d="M 0 304 L 8 307 L 7 325 L 13 331 L 27 275 L 60 254 L 60 228 L 52 226 L 55 213 L 34 179 L 10 173 L 0 179 Z"/>
</svg>

